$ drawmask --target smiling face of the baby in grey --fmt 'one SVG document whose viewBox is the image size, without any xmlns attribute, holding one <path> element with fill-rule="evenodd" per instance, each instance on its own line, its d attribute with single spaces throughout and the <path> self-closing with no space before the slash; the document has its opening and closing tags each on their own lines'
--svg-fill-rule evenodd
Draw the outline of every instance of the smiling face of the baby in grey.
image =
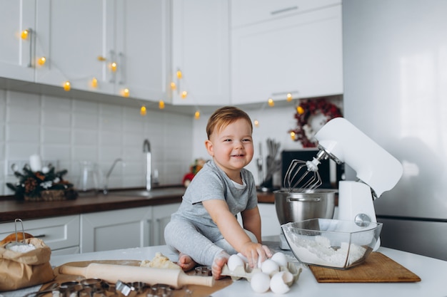
<svg viewBox="0 0 447 297">
<path fill-rule="evenodd" d="M 230 178 L 233 174 L 239 174 L 253 159 L 251 127 L 245 119 L 236 120 L 220 130 L 213 131 L 205 145 L 216 165 Z"/>
</svg>

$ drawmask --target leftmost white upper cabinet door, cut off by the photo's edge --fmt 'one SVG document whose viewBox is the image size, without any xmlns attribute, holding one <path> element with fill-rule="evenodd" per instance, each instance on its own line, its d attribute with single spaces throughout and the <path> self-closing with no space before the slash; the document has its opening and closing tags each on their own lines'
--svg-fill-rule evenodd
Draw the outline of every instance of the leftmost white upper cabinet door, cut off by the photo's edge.
<svg viewBox="0 0 447 297">
<path fill-rule="evenodd" d="M 36 29 L 35 0 L 0 0 L 0 77 L 34 81 L 34 43 L 29 34 L 21 38 L 21 31 Z"/>
</svg>

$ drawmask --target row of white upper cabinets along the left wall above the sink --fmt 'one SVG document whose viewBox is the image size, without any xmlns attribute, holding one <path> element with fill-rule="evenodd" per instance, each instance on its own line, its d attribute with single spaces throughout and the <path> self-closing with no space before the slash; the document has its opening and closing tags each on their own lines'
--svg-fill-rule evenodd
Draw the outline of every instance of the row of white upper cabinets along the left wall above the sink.
<svg viewBox="0 0 447 297">
<path fill-rule="evenodd" d="M 14 9 L 14 16 L 0 21 L 7 25 L 1 36 L 28 27 L 33 31 L 28 39 L 11 42 L 6 58 L 17 68 L 31 68 L 34 82 L 62 87 L 69 81 L 76 90 L 143 100 L 169 98 L 167 1 L 10 2 L 1 0 Z M 20 24 L 21 14 L 29 15 L 31 24 Z M 14 50 L 21 56 L 14 56 Z M 41 58 L 46 59 L 43 65 Z M 31 67 L 24 65 L 28 61 Z"/>
</svg>

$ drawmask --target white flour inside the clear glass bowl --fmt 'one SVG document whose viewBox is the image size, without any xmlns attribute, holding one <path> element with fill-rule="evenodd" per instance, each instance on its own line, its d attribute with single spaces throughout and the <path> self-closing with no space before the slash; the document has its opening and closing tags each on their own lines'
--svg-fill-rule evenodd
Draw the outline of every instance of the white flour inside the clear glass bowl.
<svg viewBox="0 0 447 297">
<path fill-rule="evenodd" d="M 307 237 L 300 236 L 299 240 L 289 241 L 300 243 L 300 246 L 291 244 L 291 249 L 304 263 L 343 268 L 360 260 L 366 253 L 366 248 L 356 244 L 342 242 L 341 246 L 335 249 L 331 246 L 331 241 L 324 236 L 311 236 L 311 239 Z"/>
</svg>

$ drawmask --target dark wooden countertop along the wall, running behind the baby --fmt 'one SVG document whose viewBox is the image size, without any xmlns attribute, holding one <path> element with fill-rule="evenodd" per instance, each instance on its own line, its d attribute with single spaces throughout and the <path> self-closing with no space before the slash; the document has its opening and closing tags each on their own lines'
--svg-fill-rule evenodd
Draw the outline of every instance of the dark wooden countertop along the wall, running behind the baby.
<svg viewBox="0 0 447 297">
<path fill-rule="evenodd" d="M 170 188 L 166 187 L 166 189 Z M 118 194 L 98 194 L 90 197 L 80 196 L 74 200 L 51 202 L 17 201 L 14 197 L 4 196 L 0 197 L 0 222 L 11 222 L 16 218 L 39 219 L 178 202 L 181 202 L 181 195 L 169 193 L 151 198 L 128 195 L 121 196 Z M 258 192 L 258 202 L 273 203 L 273 193 Z"/>
</svg>

